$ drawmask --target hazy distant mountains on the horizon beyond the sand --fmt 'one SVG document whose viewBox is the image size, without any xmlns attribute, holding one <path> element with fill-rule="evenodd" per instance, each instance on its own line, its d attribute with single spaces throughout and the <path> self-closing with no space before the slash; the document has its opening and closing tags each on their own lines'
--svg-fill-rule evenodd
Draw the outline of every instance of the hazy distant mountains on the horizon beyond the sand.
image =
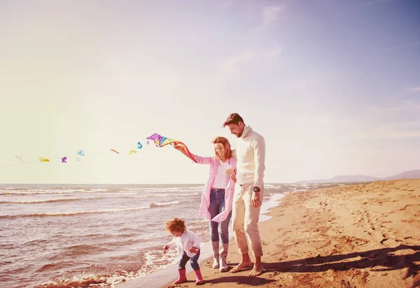
<svg viewBox="0 0 420 288">
<path fill-rule="evenodd" d="M 379 180 L 399 180 L 399 179 L 420 179 L 420 170 L 405 171 L 400 174 L 396 174 L 390 177 L 372 177 L 366 175 L 337 175 L 330 179 L 318 179 L 318 180 L 307 180 L 298 181 L 296 183 L 353 183 L 353 182 L 372 182 Z"/>
</svg>

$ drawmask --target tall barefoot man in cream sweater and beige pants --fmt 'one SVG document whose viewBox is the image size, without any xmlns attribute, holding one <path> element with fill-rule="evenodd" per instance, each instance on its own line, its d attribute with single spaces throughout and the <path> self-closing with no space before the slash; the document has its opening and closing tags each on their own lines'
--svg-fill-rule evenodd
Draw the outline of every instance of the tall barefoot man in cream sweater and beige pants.
<svg viewBox="0 0 420 288">
<path fill-rule="evenodd" d="M 237 141 L 237 185 L 233 198 L 232 221 L 235 239 L 242 255 L 241 262 L 230 270 L 235 273 L 251 265 L 248 254 L 248 238 L 255 256 L 253 269 L 248 277 L 262 273 L 262 245 L 258 219 L 264 191 L 262 181 L 265 170 L 265 140 L 264 137 L 245 125 L 239 114 L 230 114 L 223 128 L 228 126 L 230 132 L 238 138 Z"/>
</svg>

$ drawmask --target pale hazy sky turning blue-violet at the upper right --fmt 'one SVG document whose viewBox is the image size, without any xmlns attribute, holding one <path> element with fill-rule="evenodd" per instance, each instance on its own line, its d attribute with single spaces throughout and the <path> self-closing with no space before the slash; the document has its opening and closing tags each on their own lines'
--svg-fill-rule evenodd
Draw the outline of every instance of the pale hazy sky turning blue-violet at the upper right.
<svg viewBox="0 0 420 288">
<path fill-rule="evenodd" d="M 212 156 L 233 112 L 266 183 L 420 169 L 419 1 L 6 0 L 0 39 L 0 183 L 204 184 L 146 137 Z"/>
</svg>

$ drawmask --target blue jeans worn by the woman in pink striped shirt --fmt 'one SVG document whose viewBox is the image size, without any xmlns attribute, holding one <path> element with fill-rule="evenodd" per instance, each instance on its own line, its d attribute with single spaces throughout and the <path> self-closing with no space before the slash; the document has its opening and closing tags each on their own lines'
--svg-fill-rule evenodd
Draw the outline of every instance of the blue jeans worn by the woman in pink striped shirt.
<svg viewBox="0 0 420 288">
<path fill-rule="evenodd" d="M 209 212 L 211 219 L 225 210 L 225 189 L 211 189 Z M 229 243 L 229 221 L 232 211 L 223 222 L 210 221 L 211 241 L 221 241 L 223 244 Z M 220 235 L 220 236 L 219 236 Z"/>
</svg>

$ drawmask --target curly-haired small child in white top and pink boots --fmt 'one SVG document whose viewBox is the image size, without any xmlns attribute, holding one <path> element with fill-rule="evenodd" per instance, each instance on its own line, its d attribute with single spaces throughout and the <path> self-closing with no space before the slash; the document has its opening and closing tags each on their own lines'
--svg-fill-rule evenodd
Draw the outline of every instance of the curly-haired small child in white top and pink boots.
<svg viewBox="0 0 420 288">
<path fill-rule="evenodd" d="M 181 284 L 187 281 L 186 263 L 188 260 L 190 260 L 191 267 L 193 267 L 195 275 L 197 276 L 197 281 L 195 281 L 195 284 L 204 284 L 200 266 L 197 263 L 198 257 L 200 257 L 200 237 L 195 235 L 195 233 L 188 231 L 185 221 L 179 218 L 174 218 L 167 221 L 165 224 L 165 229 L 174 235 L 174 238 L 171 240 L 171 242 L 163 247 L 163 252 L 166 253 L 169 247 L 177 247 L 179 256 L 181 257 L 178 265 L 179 278 L 174 282 L 174 284 Z"/>
</svg>

